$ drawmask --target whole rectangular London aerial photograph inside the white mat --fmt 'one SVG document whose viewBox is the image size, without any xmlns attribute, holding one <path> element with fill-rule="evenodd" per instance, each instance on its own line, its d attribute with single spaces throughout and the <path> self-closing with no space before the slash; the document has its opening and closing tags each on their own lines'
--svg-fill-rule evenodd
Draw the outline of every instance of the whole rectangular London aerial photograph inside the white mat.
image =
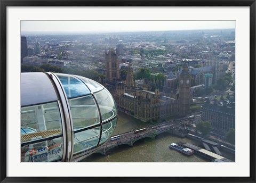
<svg viewBox="0 0 256 183">
<path fill-rule="evenodd" d="M 21 22 L 20 162 L 235 162 L 235 21 Z"/>
</svg>

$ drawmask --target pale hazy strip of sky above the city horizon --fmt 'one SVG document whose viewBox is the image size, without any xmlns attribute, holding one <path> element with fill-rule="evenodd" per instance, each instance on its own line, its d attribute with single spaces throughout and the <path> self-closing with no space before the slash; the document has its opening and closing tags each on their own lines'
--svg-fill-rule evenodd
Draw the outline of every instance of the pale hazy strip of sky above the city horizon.
<svg viewBox="0 0 256 183">
<path fill-rule="evenodd" d="M 109 32 L 235 28 L 235 21 L 21 21 L 21 31 Z"/>
</svg>

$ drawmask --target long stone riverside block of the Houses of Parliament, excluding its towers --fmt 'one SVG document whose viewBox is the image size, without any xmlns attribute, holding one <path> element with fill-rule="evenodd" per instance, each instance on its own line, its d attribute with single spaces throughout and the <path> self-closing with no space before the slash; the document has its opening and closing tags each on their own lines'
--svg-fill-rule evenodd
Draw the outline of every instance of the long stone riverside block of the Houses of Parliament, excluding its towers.
<svg viewBox="0 0 256 183">
<path fill-rule="evenodd" d="M 157 120 L 178 114 L 178 102 L 171 97 L 162 96 L 143 89 L 129 89 L 125 84 L 109 85 L 108 90 L 114 97 L 118 109 L 133 115 L 141 121 Z"/>
</svg>

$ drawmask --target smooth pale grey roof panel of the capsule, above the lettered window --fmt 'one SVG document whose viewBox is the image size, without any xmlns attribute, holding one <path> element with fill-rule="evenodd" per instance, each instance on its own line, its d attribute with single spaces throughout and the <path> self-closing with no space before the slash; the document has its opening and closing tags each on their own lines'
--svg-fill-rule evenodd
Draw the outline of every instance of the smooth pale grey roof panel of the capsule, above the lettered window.
<svg viewBox="0 0 256 183">
<path fill-rule="evenodd" d="M 57 101 L 51 80 L 43 72 L 21 73 L 21 106 Z"/>
</svg>

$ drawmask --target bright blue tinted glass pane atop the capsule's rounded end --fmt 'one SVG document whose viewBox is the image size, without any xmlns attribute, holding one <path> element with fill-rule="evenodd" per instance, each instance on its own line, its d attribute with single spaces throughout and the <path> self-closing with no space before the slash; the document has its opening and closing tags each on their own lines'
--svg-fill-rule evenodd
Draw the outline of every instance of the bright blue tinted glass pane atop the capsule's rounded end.
<svg viewBox="0 0 256 183">
<path fill-rule="evenodd" d="M 90 90 L 84 83 L 68 74 L 56 74 L 63 85 L 68 98 L 90 94 Z"/>
</svg>

